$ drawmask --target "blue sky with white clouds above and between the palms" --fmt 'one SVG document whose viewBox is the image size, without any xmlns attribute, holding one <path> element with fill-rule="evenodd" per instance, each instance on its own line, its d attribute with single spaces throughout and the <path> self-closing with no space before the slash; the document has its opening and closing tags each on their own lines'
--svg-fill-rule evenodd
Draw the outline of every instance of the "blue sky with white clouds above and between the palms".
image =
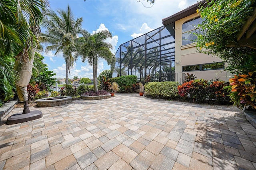
<svg viewBox="0 0 256 170">
<path fill-rule="evenodd" d="M 195 4 L 197 0 L 156 0 L 154 5 L 140 0 L 50 0 L 53 10 L 66 10 L 70 8 L 76 18 L 83 18 L 82 27 L 90 33 L 99 30 L 112 32 L 112 39 L 107 41 L 113 45 L 112 53 L 115 54 L 119 45 L 151 30 L 162 26 L 162 19 Z M 151 8 L 146 8 L 152 6 Z M 49 70 L 56 73 L 56 78 L 66 77 L 66 63 L 62 54 L 54 56 L 54 51 L 42 53 L 44 63 Z M 98 62 L 98 75 L 110 69 L 106 61 Z M 87 62 L 82 63 L 80 58 L 70 70 L 69 78 L 92 78 L 92 66 Z"/>
</svg>

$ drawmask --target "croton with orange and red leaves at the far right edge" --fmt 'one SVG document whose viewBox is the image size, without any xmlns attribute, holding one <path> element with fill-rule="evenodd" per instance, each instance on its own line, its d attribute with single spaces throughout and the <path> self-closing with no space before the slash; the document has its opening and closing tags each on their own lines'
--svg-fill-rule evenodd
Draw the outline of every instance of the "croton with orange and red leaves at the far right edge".
<svg viewBox="0 0 256 170">
<path fill-rule="evenodd" d="M 231 90 L 230 99 L 234 106 L 256 109 L 256 71 L 251 71 L 248 75 L 235 75 L 229 82 L 227 88 Z"/>
</svg>

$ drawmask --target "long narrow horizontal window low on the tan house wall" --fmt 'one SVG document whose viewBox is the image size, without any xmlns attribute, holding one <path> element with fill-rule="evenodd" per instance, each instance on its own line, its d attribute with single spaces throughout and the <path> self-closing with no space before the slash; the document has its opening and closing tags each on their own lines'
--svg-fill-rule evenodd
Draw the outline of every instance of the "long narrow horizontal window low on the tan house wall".
<svg viewBox="0 0 256 170">
<path fill-rule="evenodd" d="M 215 70 L 224 69 L 224 62 L 206 63 L 198 65 L 186 65 L 182 67 L 182 71 L 200 71 L 200 70 Z"/>
</svg>

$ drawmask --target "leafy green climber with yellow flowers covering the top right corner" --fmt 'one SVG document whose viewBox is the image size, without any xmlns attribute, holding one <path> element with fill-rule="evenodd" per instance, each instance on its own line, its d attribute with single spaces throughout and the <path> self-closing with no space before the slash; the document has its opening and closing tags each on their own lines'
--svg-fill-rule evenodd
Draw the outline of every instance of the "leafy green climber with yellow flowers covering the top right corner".
<svg viewBox="0 0 256 170">
<path fill-rule="evenodd" d="M 238 66 L 251 57 L 256 61 L 255 0 L 207 0 L 197 12 L 204 20 L 198 25 L 201 32 L 197 47 L 202 53 L 216 55 L 228 63 L 227 70 L 239 74 Z M 247 32 L 246 32 L 247 31 Z M 207 50 L 202 50 L 207 49 Z M 252 67 L 244 68 L 250 72 Z"/>
</svg>

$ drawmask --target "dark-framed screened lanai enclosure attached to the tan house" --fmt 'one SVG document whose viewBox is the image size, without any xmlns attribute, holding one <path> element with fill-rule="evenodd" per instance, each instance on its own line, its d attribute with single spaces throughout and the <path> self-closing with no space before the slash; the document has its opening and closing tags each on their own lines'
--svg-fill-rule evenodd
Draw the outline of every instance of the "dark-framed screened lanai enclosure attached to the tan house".
<svg viewBox="0 0 256 170">
<path fill-rule="evenodd" d="M 115 54 L 113 77 L 136 75 L 144 81 L 150 74 L 151 81 L 174 81 L 174 40 L 172 23 L 123 43 Z"/>
</svg>

